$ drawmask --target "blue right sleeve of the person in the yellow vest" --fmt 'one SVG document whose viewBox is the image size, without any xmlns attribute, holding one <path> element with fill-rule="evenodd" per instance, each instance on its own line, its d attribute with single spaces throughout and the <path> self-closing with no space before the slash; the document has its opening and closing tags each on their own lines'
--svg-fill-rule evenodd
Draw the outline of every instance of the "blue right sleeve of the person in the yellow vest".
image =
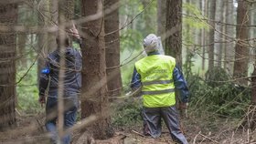
<svg viewBox="0 0 256 144">
<path fill-rule="evenodd" d="M 181 70 L 177 66 L 175 67 L 173 72 L 173 79 L 174 79 L 176 90 L 181 97 L 181 101 L 184 103 L 187 103 L 188 101 L 187 81 L 185 80 Z"/>
</svg>

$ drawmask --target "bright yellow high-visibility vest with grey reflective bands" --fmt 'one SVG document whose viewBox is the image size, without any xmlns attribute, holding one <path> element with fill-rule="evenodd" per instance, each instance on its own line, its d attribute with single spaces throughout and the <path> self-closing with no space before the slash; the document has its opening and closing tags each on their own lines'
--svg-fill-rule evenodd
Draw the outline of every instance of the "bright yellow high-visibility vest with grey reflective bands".
<svg viewBox="0 0 256 144">
<path fill-rule="evenodd" d="M 152 55 L 135 63 L 141 75 L 144 107 L 159 108 L 176 104 L 173 71 L 176 67 L 174 57 Z"/>
</svg>

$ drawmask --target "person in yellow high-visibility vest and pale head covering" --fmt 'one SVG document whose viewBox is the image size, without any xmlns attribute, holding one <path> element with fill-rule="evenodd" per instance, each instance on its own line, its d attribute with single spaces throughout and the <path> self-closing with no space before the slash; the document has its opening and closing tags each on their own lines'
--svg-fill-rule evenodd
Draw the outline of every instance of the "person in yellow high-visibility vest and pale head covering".
<svg viewBox="0 0 256 144">
<path fill-rule="evenodd" d="M 187 82 L 176 59 L 160 55 L 160 37 L 150 34 L 144 38 L 144 50 L 147 57 L 135 63 L 131 87 L 133 91 L 141 89 L 144 108 L 144 135 L 157 138 L 161 135 L 161 118 L 164 119 L 174 141 L 187 144 L 176 110 L 175 91 L 181 97 L 180 108 L 187 108 Z"/>
</svg>

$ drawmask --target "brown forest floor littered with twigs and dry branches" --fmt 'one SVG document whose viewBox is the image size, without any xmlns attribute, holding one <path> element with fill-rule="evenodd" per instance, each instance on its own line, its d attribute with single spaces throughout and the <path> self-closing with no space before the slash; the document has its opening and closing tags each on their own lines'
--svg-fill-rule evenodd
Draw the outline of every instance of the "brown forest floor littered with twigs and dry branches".
<svg viewBox="0 0 256 144">
<path fill-rule="evenodd" d="M 43 124 L 44 118 L 22 116 L 18 118 L 16 129 L 0 132 L 2 144 L 47 144 L 48 134 Z M 256 131 L 237 129 L 238 121 L 231 118 L 207 117 L 182 118 L 182 129 L 189 144 L 256 144 Z M 82 134 L 73 132 L 72 144 L 83 144 Z M 173 144 L 168 130 L 163 128 L 160 138 L 152 139 L 142 135 L 141 126 L 116 128 L 111 139 L 91 139 L 93 144 Z"/>
</svg>

